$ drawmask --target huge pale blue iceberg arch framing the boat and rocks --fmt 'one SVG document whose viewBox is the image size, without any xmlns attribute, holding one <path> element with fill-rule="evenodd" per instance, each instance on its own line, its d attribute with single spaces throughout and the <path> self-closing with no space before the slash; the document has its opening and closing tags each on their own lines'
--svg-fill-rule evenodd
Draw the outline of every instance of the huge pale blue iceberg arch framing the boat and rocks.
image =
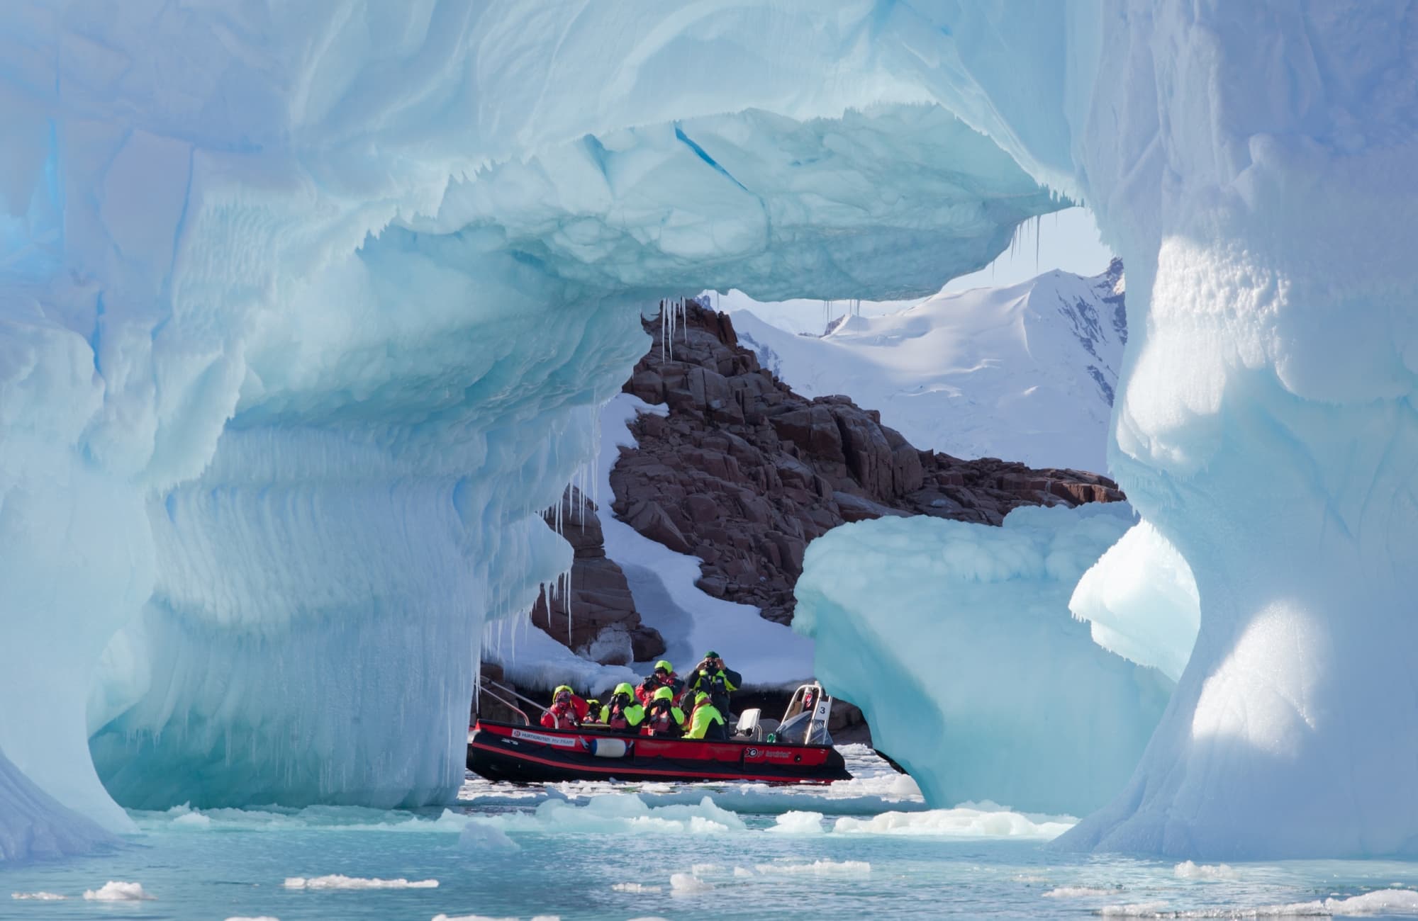
<svg viewBox="0 0 1418 921">
<path fill-rule="evenodd" d="M 6 4 L 0 750 L 111 827 L 89 720 L 125 802 L 445 796 L 638 306 L 929 293 L 1044 183 L 1127 264 L 1110 462 L 1201 599 L 1071 842 L 1412 850 L 1415 18 Z"/>
</svg>

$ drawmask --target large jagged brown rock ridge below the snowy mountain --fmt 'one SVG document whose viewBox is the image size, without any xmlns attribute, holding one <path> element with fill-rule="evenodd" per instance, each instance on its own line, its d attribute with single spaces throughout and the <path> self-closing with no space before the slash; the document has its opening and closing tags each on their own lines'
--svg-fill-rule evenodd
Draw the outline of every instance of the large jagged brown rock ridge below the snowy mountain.
<svg viewBox="0 0 1418 921">
<path fill-rule="evenodd" d="M 739 347 L 727 316 L 691 302 L 686 320 L 674 358 L 668 350 L 661 358 L 659 322 L 645 323 L 655 341 L 625 390 L 668 404 L 669 415 L 635 422 L 640 448 L 621 449 L 611 507 L 651 540 L 698 555 L 703 591 L 756 605 L 770 621 L 793 619 L 808 541 L 845 521 L 930 514 L 1001 524 L 1021 504 L 1123 499 L 1095 473 L 917 451 L 847 397 L 788 390 Z"/>
</svg>

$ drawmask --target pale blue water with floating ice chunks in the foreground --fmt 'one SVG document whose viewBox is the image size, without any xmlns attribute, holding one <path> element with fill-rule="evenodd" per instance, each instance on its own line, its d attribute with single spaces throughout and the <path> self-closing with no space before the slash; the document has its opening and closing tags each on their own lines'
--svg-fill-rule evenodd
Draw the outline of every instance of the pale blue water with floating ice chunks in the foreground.
<svg viewBox="0 0 1418 921">
<path fill-rule="evenodd" d="M 469 778 L 448 810 L 138 812 L 112 854 L 0 870 L 0 917 L 1418 915 L 1415 863 L 1059 854 L 1066 818 L 930 812 L 845 751 L 856 779 L 827 789 Z"/>
</svg>

